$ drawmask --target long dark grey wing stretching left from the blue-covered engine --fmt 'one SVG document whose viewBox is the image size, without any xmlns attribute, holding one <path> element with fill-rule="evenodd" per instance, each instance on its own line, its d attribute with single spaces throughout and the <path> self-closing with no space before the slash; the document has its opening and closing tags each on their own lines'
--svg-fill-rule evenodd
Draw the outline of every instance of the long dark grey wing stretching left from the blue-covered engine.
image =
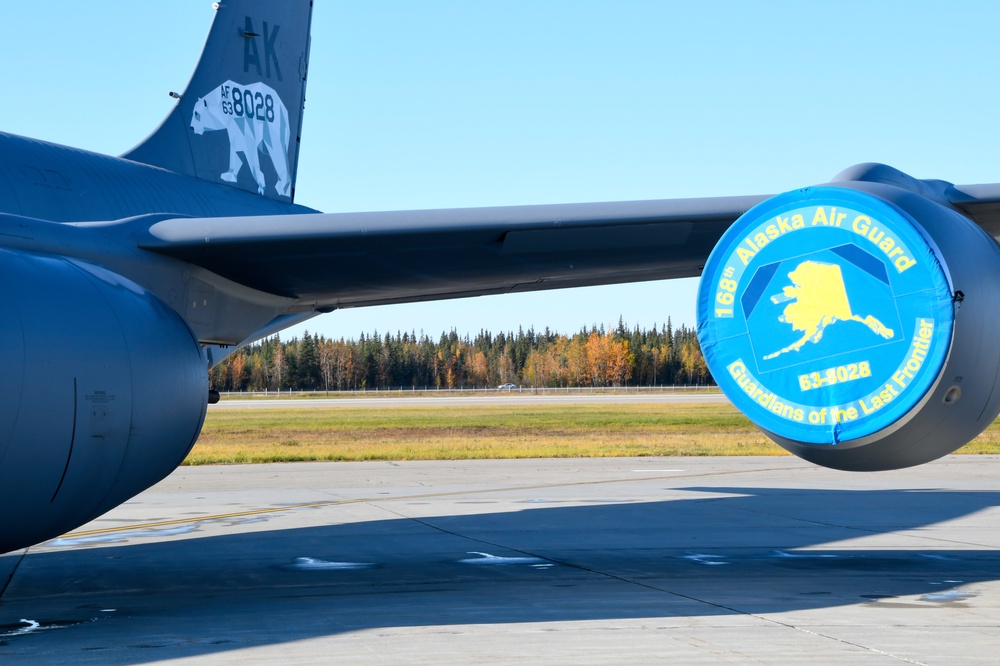
<svg viewBox="0 0 1000 666">
<path fill-rule="evenodd" d="M 174 218 L 139 246 L 325 310 L 696 276 L 765 198 Z"/>
</svg>

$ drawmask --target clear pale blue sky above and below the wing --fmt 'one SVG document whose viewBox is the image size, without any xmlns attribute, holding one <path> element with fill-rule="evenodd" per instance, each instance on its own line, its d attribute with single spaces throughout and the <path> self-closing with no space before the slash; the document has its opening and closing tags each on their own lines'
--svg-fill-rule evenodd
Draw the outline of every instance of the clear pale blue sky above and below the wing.
<svg viewBox="0 0 1000 666">
<path fill-rule="evenodd" d="M 124 152 L 207 0 L 5 7 L 0 129 Z M 297 201 L 360 211 L 777 193 L 867 161 L 995 182 L 1000 3 L 319 0 Z M 697 281 L 335 312 L 438 335 L 693 325 Z"/>
</svg>

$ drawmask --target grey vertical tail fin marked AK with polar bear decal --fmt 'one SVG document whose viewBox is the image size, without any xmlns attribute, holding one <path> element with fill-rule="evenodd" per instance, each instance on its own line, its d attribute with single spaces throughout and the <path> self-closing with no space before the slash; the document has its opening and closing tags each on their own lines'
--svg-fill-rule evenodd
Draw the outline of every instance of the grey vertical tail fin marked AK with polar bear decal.
<svg viewBox="0 0 1000 666">
<path fill-rule="evenodd" d="M 122 157 L 272 199 L 295 196 L 312 0 L 223 0 L 177 106 Z"/>
</svg>

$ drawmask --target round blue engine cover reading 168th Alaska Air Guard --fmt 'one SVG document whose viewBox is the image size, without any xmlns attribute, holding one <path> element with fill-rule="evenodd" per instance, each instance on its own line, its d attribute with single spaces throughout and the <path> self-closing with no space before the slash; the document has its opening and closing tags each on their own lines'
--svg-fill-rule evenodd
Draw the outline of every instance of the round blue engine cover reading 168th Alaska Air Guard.
<svg viewBox="0 0 1000 666">
<path fill-rule="evenodd" d="M 748 211 L 698 288 L 698 339 L 719 387 L 760 427 L 811 444 L 908 414 L 937 381 L 953 322 L 947 270 L 920 226 L 836 187 Z"/>
</svg>

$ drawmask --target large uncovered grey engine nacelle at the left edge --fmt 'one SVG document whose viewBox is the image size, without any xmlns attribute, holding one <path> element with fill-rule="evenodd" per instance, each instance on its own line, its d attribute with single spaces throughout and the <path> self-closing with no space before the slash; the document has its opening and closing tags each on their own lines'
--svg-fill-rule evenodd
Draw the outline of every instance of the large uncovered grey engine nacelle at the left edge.
<svg viewBox="0 0 1000 666">
<path fill-rule="evenodd" d="M 81 525 L 169 474 L 201 430 L 202 350 L 100 267 L 0 250 L 0 552 Z"/>
</svg>

